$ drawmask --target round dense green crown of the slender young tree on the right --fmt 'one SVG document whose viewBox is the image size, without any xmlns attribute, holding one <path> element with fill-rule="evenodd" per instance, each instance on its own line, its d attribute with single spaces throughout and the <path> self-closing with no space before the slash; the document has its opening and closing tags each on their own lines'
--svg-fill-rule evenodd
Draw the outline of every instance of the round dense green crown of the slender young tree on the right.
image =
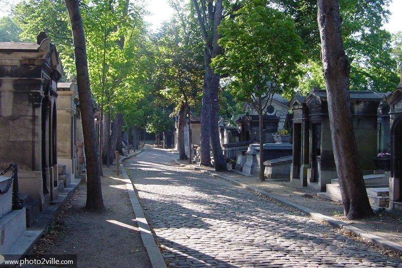
<svg viewBox="0 0 402 268">
<path fill-rule="evenodd" d="M 229 87 L 236 98 L 254 103 L 296 85 L 296 63 L 302 60 L 302 40 L 293 21 L 267 7 L 266 0 L 253 0 L 219 28 L 224 49 L 213 65 L 231 77 Z"/>
</svg>

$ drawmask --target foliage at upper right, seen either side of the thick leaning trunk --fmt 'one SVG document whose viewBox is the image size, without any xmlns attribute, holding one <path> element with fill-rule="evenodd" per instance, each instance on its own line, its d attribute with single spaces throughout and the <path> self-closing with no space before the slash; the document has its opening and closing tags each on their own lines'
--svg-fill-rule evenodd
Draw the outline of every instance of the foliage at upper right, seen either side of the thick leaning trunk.
<svg viewBox="0 0 402 268">
<path fill-rule="evenodd" d="M 297 32 L 304 41 L 303 51 L 309 60 L 301 66 L 305 75 L 299 76 L 300 91 L 305 92 L 308 85 L 324 88 L 316 73 L 321 66 L 317 1 L 275 2 L 294 19 Z M 351 90 L 389 91 L 397 82 L 396 63 L 391 56 L 391 36 L 382 29 L 389 15 L 386 10 L 389 2 L 340 0 L 344 48 L 351 62 Z"/>
</svg>

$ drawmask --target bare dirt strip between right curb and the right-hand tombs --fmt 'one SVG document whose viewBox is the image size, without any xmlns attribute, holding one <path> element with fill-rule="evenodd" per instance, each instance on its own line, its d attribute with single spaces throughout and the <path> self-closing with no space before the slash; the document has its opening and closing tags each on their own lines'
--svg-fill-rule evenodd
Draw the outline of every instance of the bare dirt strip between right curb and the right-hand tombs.
<svg viewBox="0 0 402 268">
<path fill-rule="evenodd" d="M 180 162 L 188 164 L 188 161 Z M 213 171 L 214 169 L 211 168 L 211 170 Z M 323 215 L 350 223 L 357 228 L 378 235 L 392 242 L 402 244 L 402 215 L 399 216 L 396 214 L 381 212 L 374 217 L 362 220 L 348 220 L 343 215 L 343 207 L 340 203 L 317 197 L 315 192 L 307 188 L 297 188 L 291 186 L 288 182 L 275 182 L 269 180 L 260 182 L 259 178 L 256 176 L 245 176 L 234 171 L 224 172 L 223 174 L 239 182 L 259 187 L 268 193 L 285 198 Z"/>
</svg>

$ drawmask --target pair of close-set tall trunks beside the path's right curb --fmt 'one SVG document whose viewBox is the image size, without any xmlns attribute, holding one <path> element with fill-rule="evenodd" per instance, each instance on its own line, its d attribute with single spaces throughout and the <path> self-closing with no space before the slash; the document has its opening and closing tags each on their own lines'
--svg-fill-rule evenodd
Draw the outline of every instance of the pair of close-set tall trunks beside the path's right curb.
<svg viewBox="0 0 402 268">
<path fill-rule="evenodd" d="M 223 0 L 192 0 L 197 20 L 205 42 L 204 61 L 205 76 L 203 90 L 203 107 L 201 110 L 201 144 L 200 165 L 211 165 L 210 140 L 214 151 L 215 170 L 226 170 L 219 138 L 219 90 L 221 76 L 211 68 L 211 61 L 221 54 L 218 44 L 220 34 L 218 26 L 223 18 Z"/>
</svg>

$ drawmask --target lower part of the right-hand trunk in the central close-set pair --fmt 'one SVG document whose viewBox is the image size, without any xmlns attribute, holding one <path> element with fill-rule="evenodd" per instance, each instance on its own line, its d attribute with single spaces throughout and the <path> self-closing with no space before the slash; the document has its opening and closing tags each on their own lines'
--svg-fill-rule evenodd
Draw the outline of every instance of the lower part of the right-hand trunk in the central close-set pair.
<svg viewBox="0 0 402 268">
<path fill-rule="evenodd" d="M 214 150 L 214 166 L 216 171 L 226 171 L 228 166 L 222 152 L 221 139 L 219 135 L 219 80 L 218 74 L 212 75 L 211 88 L 211 143 Z"/>
</svg>

